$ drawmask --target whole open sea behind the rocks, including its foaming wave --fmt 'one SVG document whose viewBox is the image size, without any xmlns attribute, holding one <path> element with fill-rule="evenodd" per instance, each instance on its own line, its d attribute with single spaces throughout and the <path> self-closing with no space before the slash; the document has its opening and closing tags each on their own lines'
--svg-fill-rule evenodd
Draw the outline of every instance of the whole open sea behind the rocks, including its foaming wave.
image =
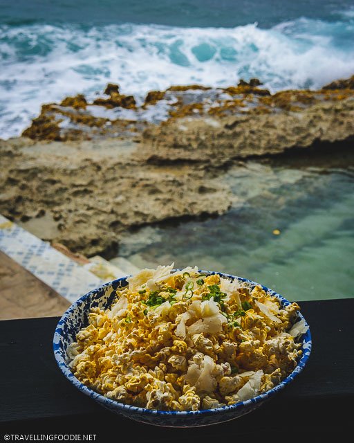
<svg viewBox="0 0 354 443">
<path fill-rule="evenodd" d="M 354 73 L 352 1 L 1 1 L 0 138 L 45 102 L 117 82 L 142 99 L 171 84 L 260 78 L 272 91 Z"/>
</svg>

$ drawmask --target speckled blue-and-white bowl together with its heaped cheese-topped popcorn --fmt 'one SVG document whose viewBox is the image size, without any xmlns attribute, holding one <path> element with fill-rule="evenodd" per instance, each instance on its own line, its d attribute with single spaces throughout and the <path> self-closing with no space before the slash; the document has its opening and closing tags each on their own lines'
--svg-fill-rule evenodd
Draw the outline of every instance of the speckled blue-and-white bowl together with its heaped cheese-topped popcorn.
<svg viewBox="0 0 354 443">
<path fill-rule="evenodd" d="M 67 379 L 113 413 L 187 427 L 263 404 L 304 368 L 311 335 L 299 305 L 261 284 L 171 264 L 86 293 L 53 349 Z"/>
</svg>

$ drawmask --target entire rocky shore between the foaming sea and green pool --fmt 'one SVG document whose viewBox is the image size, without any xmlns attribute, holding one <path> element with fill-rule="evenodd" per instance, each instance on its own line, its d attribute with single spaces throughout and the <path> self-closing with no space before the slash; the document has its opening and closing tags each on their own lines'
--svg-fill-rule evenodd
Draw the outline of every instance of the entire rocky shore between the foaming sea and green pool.
<svg viewBox="0 0 354 443">
<path fill-rule="evenodd" d="M 250 157 L 354 141 L 354 76 L 319 91 L 236 87 L 151 91 L 109 84 L 102 98 L 44 105 L 21 138 L 0 141 L 0 213 L 85 255 L 113 257 L 122 233 L 218 215 L 236 197 L 220 177 Z"/>
</svg>

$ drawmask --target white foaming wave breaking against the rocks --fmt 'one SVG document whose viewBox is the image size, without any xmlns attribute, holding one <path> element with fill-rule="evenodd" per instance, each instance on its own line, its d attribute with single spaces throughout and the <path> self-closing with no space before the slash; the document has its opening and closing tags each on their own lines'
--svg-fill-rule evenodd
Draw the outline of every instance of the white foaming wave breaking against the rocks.
<svg viewBox="0 0 354 443">
<path fill-rule="evenodd" d="M 272 91 L 318 88 L 354 73 L 354 20 L 288 21 L 271 29 L 157 25 L 0 27 L 0 137 L 21 134 L 41 104 L 119 83 L 142 98 L 171 84 L 229 86 L 260 78 Z"/>
</svg>

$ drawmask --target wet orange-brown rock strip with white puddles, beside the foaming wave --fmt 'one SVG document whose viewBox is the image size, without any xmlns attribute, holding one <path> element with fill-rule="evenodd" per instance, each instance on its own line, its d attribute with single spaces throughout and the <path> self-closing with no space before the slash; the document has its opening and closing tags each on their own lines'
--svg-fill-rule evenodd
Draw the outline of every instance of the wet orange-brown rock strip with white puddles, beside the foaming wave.
<svg viewBox="0 0 354 443">
<path fill-rule="evenodd" d="M 109 83 L 105 96 L 88 102 L 82 95 L 67 97 L 62 103 L 44 105 L 41 114 L 23 133 L 33 140 L 67 141 L 109 137 L 141 137 L 158 124 L 188 117 L 227 118 L 302 112 L 323 102 L 342 102 L 354 98 L 353 78 L 333 82 L 319 91 L 288 90 L 271 94 L 261 81 L 241 80 L 237 86 L 205 87 L 199 84 L 172 86 L 165 91 L 150 91 L 145 102 L 120 93 L 118 84 Z M 327 89 L 326 89 L 327 88 Z M 109 97 L 107 98 L 107 95 Z M 255 125 L 257 125 L 255 120 Z M 183 126 L 183 125 L 181 125 Z"/>
</svg>

